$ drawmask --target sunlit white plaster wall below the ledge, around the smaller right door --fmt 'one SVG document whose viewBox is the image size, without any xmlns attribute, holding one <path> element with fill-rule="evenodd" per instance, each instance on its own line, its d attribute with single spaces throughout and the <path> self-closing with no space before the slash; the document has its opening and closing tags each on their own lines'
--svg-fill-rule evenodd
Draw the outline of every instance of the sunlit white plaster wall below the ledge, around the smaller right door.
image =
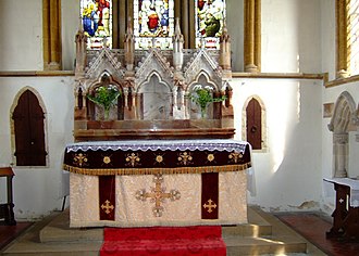
<svg viewBox="0 0 359 256">
<path fill-rule="evenodd" d="M 321 201 L 320 80 L 233 79 L 236 139 L 244 102 L 258 95 L 267 113 L 267 145 L 253 151 L 256 193 L 249 203 L 269 210 L 318 209 Z"/>
</svg>

